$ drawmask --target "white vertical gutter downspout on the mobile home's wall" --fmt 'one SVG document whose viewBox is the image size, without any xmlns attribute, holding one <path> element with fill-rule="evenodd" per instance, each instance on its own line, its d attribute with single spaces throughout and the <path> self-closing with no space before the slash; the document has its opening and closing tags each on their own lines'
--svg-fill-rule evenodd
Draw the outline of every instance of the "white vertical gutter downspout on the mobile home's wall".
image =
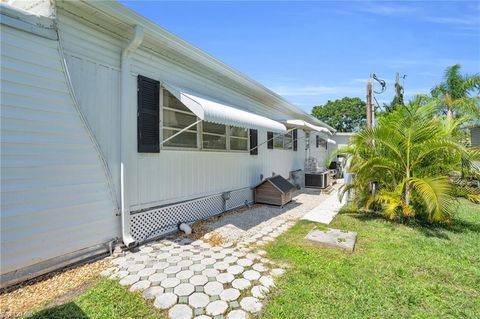
<svg viewBox="0 0 480 319">
<path fill-rule="evenodd" d="M 129 130 L 129 118 L 128 109 L 130 102 L 130 54 L 136 50 L 143 41 L 144 29 L 140 25 L 135 25 L 134 33 L 130 42 L 123 49 L 121 55 L 121 82 L 120 82 L 120 210 L 122 215 L 122 241 L 127 248 L 135 247 L 137 244 L 130 233 L 130 210 L 129 205 L 126 203 L 126 190 L 125 190 L 125 170 L 126 161 L 128 158 L 128 135 Z"/>
</svg>

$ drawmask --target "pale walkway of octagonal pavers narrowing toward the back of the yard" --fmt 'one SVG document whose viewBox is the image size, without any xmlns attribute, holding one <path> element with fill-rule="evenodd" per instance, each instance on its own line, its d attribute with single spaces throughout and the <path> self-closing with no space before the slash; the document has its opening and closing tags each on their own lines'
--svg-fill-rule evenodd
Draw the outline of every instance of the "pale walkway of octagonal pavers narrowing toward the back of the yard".
<svg viewBox="0 0 480 319">
<path fill-rule="evenodd" d="M 260 206 L 226 216 L 216 230 L 232 233 L 230 222 L 241 219 L 241 214 L 273 212 L 263 222 L 237 231 L 221 246 L 170 237 L 112 259 L 115 266 L 102 275 L 119 280 L 131 291 L 142 291 L 145 298 L 154 300 L 155 307 L 167 310 L 172 319 L 248 318 L 262 310 L 262 299 L 275 286 L 275 277 L 287 267 L 265 258 L 261 246 L 293 226 L 327 196 L 303 193 L 296 198 L 296 202 L 283 208 Z"/>
</svg>

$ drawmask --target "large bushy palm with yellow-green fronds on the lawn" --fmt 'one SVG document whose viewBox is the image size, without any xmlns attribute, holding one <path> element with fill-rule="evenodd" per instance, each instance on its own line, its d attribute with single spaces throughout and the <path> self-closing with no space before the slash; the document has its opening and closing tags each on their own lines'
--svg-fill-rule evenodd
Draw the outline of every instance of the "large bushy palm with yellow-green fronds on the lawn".
<svg viewBox="0 0 480 319">
<path fill-rule="evenodd" d="M 451 219 L 454 198 L 446 173 L 458 169 L 462 158 L 480 158 L 480 151 L 458 143 L 452 132 L 459 121 L 435 116 L 435 104 L 424 101 L 397 109 L 353 137 L 346 152 L 355 177 L 343 193 L 354 189 L 357 206 L 390 219 Z"/>
</svg>

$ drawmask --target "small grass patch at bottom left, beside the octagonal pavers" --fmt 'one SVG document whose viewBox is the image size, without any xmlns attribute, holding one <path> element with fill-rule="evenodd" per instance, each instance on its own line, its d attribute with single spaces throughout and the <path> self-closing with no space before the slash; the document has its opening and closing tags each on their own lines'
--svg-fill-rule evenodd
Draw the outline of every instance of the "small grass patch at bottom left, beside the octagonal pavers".
<svg viewBox="0 0 480 319">
<path fill-rule="evenodd" d="M 100 280 L 92 289 L 72 301 L 35 312 L 28 319 L 164 318 L 140 293 L 132 293 L 117 282 Z"/>
</svg>

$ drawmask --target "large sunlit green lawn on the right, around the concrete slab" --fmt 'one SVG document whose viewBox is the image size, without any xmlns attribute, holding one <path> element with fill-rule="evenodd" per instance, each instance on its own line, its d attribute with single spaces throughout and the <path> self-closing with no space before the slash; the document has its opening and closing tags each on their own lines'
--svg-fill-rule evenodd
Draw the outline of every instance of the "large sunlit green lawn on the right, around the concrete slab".
<svg viewBox="0 0 480 319">
<path fill-rule="evenodd" d="M 303 242 L 300 221 L 272 243 L 291 268 L 264 318 L 478 318 L 480 207 L 462 201 L 450 227 L 387 222 L 344 211 L 332 228 L 355 231 L 353 253 Z"/>
</svg>

